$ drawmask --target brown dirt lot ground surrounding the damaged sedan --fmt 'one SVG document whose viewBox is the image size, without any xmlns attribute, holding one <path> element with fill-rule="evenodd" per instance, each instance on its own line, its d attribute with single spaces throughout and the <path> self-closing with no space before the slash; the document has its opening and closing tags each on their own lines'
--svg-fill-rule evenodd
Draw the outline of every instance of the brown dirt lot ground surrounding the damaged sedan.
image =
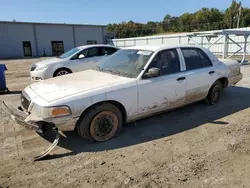
<svg viewBox="0 0 250 188">
<path fill-rule="evenodd" d="M 18 105 L 38 60 L 0 61 L 12 91 L 0 100 Z M 218 105 L 196 103 L 141 120 L 105 143 L 65 133 L 37 162 L 30 157 L 49 145 L 49 135 L 22 128 L 1 109 L 0 187 L 250 187 L 250 67 L 242 72 Z"/>
</svg>

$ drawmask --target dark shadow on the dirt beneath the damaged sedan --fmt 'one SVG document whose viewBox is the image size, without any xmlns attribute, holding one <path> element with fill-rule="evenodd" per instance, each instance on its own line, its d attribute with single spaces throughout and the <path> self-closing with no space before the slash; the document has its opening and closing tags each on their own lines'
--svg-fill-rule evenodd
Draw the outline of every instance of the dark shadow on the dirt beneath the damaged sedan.
<svg viewBox="0 0 250 188">
<path fill-rule="evenodd" d="M 47 159 L 75 155 L 81 152 L 99 152 L 128 147 L 169 137 L 196 128 L 205 123 L 227 126 L 228 122 L 217 121 L 250 107 L 250 88 L 231 87 L 224 91 L 220 103 L 210 106 L 202 102 L 188 105 L 157 116 L 146 118 L 124 126 L 120 135 L 106 142 L 94 142 L 80 138 L 75 132 L 64 132 L 58 146 L 70 150 L 65 154 L 54 154 Z M 43 136 L 52 142 L 52 137 Z"/>
</svg>

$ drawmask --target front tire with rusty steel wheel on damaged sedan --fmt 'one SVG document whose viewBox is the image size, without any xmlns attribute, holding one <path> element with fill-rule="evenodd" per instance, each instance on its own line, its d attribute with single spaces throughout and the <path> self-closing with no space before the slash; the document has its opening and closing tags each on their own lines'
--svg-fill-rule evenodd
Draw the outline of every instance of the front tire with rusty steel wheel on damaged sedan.
<svg viewBox="0 0 250 188">
<path fill-rule="evenodd" d="M 82 138 L 104 142 L 121 131 L 123 118 L 120 110 L 110 103 L 91 107 L 77 123 L 77 132 Z"/>
</svg>

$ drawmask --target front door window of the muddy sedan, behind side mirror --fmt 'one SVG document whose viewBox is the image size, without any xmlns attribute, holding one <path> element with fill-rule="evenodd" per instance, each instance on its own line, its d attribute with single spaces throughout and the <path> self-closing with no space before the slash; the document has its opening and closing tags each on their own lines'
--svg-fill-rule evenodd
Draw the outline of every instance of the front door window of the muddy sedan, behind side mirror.
<svg viewBox="0 0 250 188">
<path fill-rule="evenodd" d="M 180 72 L 180 59 L 176 49 L 159 52 L 152 61 L 150 68 L 155 67 L 161 70 L 161 75 L 168 75 Z"/>
</svg>

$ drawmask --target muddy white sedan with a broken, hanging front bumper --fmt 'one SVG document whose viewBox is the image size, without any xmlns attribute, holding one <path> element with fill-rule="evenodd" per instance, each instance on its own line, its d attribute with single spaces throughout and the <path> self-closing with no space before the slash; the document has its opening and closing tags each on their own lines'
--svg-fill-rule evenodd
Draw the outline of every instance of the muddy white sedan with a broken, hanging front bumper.
<svg viewBox="0 0 250 188">
<path fill-rule="evenodd" d="M 31 84 L 22 91 L 19 115 L 9 111 L 36 131 L 56 127 L 106 141 L 127 122 L 200 100 L 216 104 L 241 79 L 237 61 L 219 60 L 205 48 L 135 46 L 96 70 Z"/>
</svg>

